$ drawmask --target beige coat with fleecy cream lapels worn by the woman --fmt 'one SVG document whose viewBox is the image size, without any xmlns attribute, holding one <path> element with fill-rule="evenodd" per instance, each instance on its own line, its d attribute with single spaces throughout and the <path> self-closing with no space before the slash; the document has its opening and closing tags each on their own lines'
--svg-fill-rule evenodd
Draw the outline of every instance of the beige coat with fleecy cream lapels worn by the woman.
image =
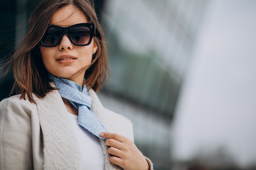
<svg viewBox="0 0 256 170">
<path fill-rule="evenodd" d="M 133 141 L 130 120 L 104 108 L 93 90 L 89 94 L 92 110 L 108 132 Z M 0 170 L 81 170 L 81 153 L 58 91 L 34 99 L 37 105 L 20 100 L 20 95 L 0 102 Z M 104 169 L 120 170 L 110 163 L 107 146 L 103 139 L 99 140 Z"/>
</svg>

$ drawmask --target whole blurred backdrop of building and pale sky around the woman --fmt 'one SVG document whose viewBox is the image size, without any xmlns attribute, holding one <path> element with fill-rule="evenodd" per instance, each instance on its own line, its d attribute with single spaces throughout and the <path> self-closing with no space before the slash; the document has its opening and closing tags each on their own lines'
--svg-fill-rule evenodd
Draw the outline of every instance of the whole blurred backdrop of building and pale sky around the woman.
<svg viewBox="0 0 256 170">
<path fill-rule="evenodd" d="M 39 0 L 0 2 L 2 59 Z M 132 121 L 155 170 L 256 170 L 256 1 L 94 2 L 111 71 L 99 98 Z"/>
</svg>

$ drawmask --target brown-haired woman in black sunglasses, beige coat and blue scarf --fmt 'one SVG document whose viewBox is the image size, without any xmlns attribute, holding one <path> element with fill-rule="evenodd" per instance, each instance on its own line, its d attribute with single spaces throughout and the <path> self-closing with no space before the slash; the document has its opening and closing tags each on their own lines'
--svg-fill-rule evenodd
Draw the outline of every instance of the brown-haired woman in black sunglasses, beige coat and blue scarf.
<svg viewBox="0 0 256 170">
<path fill-rule="evenodd" d="M 0 102 L 0 169 L 153 169 L 95 93 L 108 61 L 88 0 L 40 2 L 10 63 L 20 95 Z"/>
</svg>

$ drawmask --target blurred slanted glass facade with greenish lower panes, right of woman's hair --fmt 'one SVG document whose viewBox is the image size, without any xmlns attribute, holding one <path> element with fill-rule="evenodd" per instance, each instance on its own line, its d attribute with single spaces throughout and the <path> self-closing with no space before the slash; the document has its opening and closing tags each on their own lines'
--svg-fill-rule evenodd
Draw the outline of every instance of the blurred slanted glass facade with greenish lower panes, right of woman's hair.
<svg viewBox="0 0 256 170">
<path fill-rule="evenodd" d="M 106 91 L 171 119 L 206 2 L 106 1 L 106 36 L 112 44 Z"/>
</svg>

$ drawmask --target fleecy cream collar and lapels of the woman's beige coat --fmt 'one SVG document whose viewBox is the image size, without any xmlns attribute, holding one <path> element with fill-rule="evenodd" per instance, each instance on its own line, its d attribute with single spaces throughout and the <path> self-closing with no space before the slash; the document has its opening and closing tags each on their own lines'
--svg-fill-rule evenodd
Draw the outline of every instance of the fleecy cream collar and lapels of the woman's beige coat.
<svg viewBox="0 0 256 170">
<path fill-rule="evenodd" d="M 104 107 L 96 93 L 90 89 L 92 97 L 92 111 L 97 115 L 101 124 L 107 130 L 111 130 L 108 122 L 105 122 L 102 114 Z M 35 97 L 38 108 L 40 126 L 43 133 L 44 144 L 44 169 L 73 169 L 81 170 L 81 153 L 78 142 L 72 132 L 72 125 L 69 123 L 67 109 L 57 90 L 47 94 L 43 99 Z M 104 155 L 105 170 L 121 170 L 109 161 L 110 155 L 104 139 L 99 139 Z"/>
</svg>

